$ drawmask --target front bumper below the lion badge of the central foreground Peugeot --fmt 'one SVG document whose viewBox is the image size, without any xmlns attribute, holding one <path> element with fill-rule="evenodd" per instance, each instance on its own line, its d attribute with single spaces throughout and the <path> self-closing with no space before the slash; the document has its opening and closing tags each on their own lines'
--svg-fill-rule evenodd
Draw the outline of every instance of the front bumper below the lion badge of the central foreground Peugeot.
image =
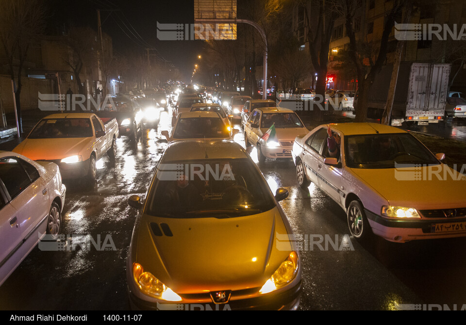
<svg viewBox="0 0 466 325">
<path fill-rule="evenodd" d="M 189 299 L 168 302 L 157 299 L 144 300 L 136 296 L 128 287 L 130 306 L 133 310 L 296 310 L 300 305 L 302 281 L 282 292 L 270 292 L 264 295 L 253 296 L 234 295 L 226 304 L 214 304 L 210 296 L 208 298 Z M 205 294 L 206 295 L 206 294 Z"/>
</svg>

